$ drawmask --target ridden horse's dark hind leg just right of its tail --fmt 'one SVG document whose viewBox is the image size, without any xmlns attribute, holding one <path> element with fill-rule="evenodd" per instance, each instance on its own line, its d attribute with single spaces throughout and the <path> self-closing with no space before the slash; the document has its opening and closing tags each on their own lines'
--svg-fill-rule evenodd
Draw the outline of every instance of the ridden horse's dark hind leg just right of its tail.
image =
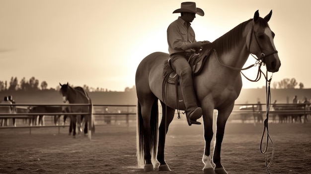
<svg viewBox="0 0 311 174">
<path fill-rule="evenodd" d="M 157 161 L 160 163 L 159 171 L 170 171 L 168 165 L 164 160 L 164 146 L 165 137 L 168 130 L 168 126 L 174 118 L 175 109 L 167 107 L 164 103 L 162 105 L 162 120 L 159 126 L 159 140 L 157 150 Z"/>
</svg>

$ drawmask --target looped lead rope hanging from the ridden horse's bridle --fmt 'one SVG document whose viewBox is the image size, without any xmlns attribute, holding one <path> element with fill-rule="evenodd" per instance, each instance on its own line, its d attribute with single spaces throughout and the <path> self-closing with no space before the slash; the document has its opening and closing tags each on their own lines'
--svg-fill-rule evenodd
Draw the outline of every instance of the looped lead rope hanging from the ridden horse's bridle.
<svg viewBox="0 0 311 174">
<path fill-rule="evenodd" d="M 268 128 L 268 120 L 269 120 L 269 111 L 270 111 L 270 104 L 271 104 L 271 93 L 270 93 L 270 83 L 272 80 L 272 75 L 270 77 L 270 79 L 267 79 L 268 77 L 268 71 L 266 72 L 266 97 L 267 97 L 267 104 L 266 104 L 266 119 L 264 120 L 264 128 L 263 128 L 263 132 L 262 132 L 262 136 L 261 136 L 261 141 L 260 141 L 260 152 L 262 154 L 266 154 L 266 170 L 268 172 L 268 174 L 271 174 L 269 171 L 269 167 L 272 164 L 272 160 L 273 160 L 273 155 L 274 155 L 274 144 L 273 141 L 269 135 L 269 128 Z M 263 137 L 265 135 L 265 131 L 267 130 L 267 139 L 266 139 L 266 146 L 265 149 L 262 150 L 262 144 L 263 144 Z M 272 153 L 271 153 L 271 160 L 270 162 L 268 162 L 268 144 L 269 144 L 269 140 L 271 141 L 272 144 Z"/>
</svg>

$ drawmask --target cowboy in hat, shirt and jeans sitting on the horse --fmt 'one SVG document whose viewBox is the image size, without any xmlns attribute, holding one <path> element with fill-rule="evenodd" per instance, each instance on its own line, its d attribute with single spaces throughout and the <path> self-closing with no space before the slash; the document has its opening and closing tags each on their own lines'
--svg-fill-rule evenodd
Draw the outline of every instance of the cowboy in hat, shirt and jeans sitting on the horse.
<svg viewBox="0 0 311 174">
<path fill-rule="evenodd" d="M 196 8 L 195 2 L 182 2 L 181 8 L 173 13 L 181 13 L 177 20 L 173 21 L 167 28 L 168 52 L 172 62 L 172 68 L 180 77 L 180 86 L 185 104 L 186 116 L 192 124 L 201 124 L 196 121 L 202 116 L 202 108 L 198 107 L 196 94 L 193 88 L 192 69 L 188 63 L 189 57 L 199 52 L 202 47 L 210 44 L 209 41 L 195 40 L 195 33 L 190 22 L 195 14 L 204 16 L 201 8 Z"/>
</svg>

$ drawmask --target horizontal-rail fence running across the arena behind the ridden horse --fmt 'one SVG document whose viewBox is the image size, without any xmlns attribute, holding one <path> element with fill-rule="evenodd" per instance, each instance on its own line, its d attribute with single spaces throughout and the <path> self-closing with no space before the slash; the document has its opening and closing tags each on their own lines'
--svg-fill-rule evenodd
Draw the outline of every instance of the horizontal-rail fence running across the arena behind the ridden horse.
<svg viewBox="0 0 311 174">
<path fill-rule="evenodd" d="M 96 125 L 103 124 L 103 122 L 109 123 L 109 117 L 111 116 L 125 116 L 125 121 L 129 124 L 130 116 L 136 115 L 136 105 L 89 105 L 89 104 L 0 104 L 0 107 L 15 106 L 15 107 L 30 107 L 30 106 L 89 106 L 88 113 L 16 113 L 7 114 L 0 113 L 0 118 L 31 118 L 38 115 L 55 116 L 55 115 L 89 115 L 90 120 L 96 116 Z M 261 104 L 262 111 L 258 111 L 258 104 L 237 104 L 234 106 L 233 112 L 229 119 L 252 119 L 253 116 L 266 114 L 266 105 Z M 113 111 L 111 111 L 113 110 Z M 270 106 L 270 115 L 311 115 L 309 104 L 274 104 Z M 135 118 L 136 120 L 136 118 Z M 88 137 L 91 139 L 91 123 L 88 125 Z M 58 127 L 59 131 L 61 127 L 68 127 L 69 125 L 42 125 L 42 126 L 2 126 L 1 128 L 29 128 L 31 129 L 38 127 Z"/>
</svg>

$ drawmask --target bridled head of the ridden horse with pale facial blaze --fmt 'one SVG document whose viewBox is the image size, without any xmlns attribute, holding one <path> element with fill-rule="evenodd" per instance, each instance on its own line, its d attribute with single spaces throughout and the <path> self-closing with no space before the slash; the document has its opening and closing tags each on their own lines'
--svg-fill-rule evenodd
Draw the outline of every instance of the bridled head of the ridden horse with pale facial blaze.
<svg viewBox="0 0 311 174">
<path fill-rule="evenodd" d="M 278 52 L 274 46 L 274 33 L 271 31 L 268 21 L 272 15 L 272 10 L 264 18 L 259 17 L 258 10 L 252 20 L 252 31 L 247 36 L 247 45 L 251 54 L 261 59 L 270 72 L 277 72 L 281 66 Z"/>
</svg>

